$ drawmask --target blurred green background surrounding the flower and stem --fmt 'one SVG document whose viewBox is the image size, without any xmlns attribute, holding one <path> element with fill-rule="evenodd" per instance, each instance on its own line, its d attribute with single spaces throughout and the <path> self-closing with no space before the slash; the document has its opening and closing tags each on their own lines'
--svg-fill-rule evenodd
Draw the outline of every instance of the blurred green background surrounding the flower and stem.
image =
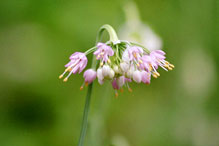
<svg viewBox="0 0 219 146">
<path fill-rule="evenodd" d="M 0 146 L 77 145 L 83 77 L 63 83 L 58 76 L 73 52 L 95 45 L 101 25 L 126 24 L 127 3 L 0 1 Z M 95 81 L 86 145 L 218 146 L 218 1 L 135 3 L 176 68 L 160 69 L 150 85 L 132 83 L 133 93 L 118 99 Z"/>
</svg>

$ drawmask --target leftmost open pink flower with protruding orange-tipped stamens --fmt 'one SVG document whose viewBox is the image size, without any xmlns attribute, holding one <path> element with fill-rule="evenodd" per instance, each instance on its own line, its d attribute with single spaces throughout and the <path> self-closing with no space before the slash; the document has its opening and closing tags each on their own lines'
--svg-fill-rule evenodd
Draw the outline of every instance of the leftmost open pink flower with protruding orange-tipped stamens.
<svg viewBox="0 0 219 146">
<path fill-rule="evenodd" d="M 65 69 L 64 73 L 59 76 L 59 78 L 62 78 L 67 71 L 70 71 L 68 76 L 64 79 L 65 82 L 68 80 L 69 76 L 72 73 L 73 74 L 76 74 L 77 72 L 81 73 L 84 70 L 84 68 L 87 66 L 87 57 L 84 53 L 75 52 L 70 56 L 69 59 L 70 62 L 65 65 L 65 67 L 67 68 Z"/>
</svg>

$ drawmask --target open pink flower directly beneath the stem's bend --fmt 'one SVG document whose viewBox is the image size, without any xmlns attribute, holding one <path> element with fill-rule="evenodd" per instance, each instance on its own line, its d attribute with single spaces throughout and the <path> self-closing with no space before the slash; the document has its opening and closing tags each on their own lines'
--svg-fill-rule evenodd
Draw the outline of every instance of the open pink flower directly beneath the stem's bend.
<svg viewBox="0 0 219 146">
<path fill-rule="evenodd" d="M 113 49 L 104 43 L 98 43 L 97 48 L 98 49 L 94 52 L 94 55 L 96 55 L 97 60 L 103 60 L 104 62 L 107 62 L 109 56 L 114 55 Z"/>
</svg>

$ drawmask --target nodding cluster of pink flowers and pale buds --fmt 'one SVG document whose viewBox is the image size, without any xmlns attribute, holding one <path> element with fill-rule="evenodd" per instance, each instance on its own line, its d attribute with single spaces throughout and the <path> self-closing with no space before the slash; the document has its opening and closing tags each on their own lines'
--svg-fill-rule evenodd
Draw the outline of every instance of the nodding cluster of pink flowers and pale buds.
<svg viewBox="0 0 219 146">
<path fill-rule="evenodd" d="M 160 66 L 164 70 L 172 70 L 173 64 L 166 61 L 165 52 L 162 50 L 149 51 L 141 45 L 127 41 L 116 41 L 98 43 L 95 47 L 84 53 L 76 52 L 70 56 L 70 62 L 65 65 L 66 69 L 59 76 L 62 78 L 66 72 L 69 74 L 64 78 L 66 82 L 72 73 L 80 73 L 87 65 L 86 55 L 95 55 L 98 67 L 90 68 L 84 72 L 84 84 L 87 86 L 96 78 L 102 85 L 106 80 L 112 82 L 115 95 L 118 90 L 123 91 L 126 86 L 129 91 L 129 82 L 150 84 L 151 76 L 160 76 L 157 69 Z M 81 86 L 83 89 L 84 84 Z"/>
</svg>

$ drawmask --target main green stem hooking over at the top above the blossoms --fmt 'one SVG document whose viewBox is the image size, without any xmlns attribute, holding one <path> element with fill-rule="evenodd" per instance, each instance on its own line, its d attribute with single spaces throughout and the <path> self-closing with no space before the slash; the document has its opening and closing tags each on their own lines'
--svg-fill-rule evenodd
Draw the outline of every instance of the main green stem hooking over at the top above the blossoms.
<svg viewBox="0 0 219 146">
<path fill-rule="evenodd" d="M 109 33 L 110 36 L 110 41 L 117 41 L 118 37 L 115 32 L 115 30 L 108 24 L 103 25 L 97 35 L 97 40 L 96 43 L 98 43 L 101 40 L 103 31 L 106 30 Z M 93 49 L 93 48 L 92 48 Z M 90 49 L 90 50 L 92 50 Z M 90 51 L 86 52 L 89 53 Z M 94 70 L 96 70 L 96 58 L 93 56 L 93 61 L 92 61 L 92 66 Z M 84 139 L 86 136 L 86 131 L 87 131 L 87 124 L 88 124 L 88 114 L 89 114 L 89 109 L 90 109 L 90 100 L 91 100 L 91 93 L 92 93 L 92 88 L 93 88 L 93 83 L 91 83 L 88 86 L 87 89 L 87 96 L 86 96 L 86 101 L 85 101 L 85 106 L 84 106 L 84 114 L 83 114 L 83 119 L 82 119 L 82 127 L 81 127 L 81 134 L 78 142 L 78 146 L 83 146 L 84 145 Z"/>
</svg>

